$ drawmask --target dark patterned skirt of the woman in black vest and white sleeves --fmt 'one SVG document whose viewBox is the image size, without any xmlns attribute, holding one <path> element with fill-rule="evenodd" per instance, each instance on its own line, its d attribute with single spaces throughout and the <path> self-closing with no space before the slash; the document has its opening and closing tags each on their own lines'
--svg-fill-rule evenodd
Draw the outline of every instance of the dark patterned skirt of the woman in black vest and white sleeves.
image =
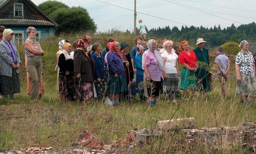
<svg viewBox="0 0 256 154">
<path fill-rule="evenodd" d="M 59 75 L 59 95 L 65 95 L 68 100 L 73 100 L 74 74 Z"/>
</svg>

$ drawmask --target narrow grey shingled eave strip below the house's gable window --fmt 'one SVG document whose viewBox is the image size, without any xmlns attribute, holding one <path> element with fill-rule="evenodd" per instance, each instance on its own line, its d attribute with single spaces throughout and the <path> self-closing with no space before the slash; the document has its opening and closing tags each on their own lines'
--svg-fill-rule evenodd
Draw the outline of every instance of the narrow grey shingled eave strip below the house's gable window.
<svg viewBox="0 0 256 154">
<path fill-rule="evenodd" d="M 29 19 L 0 19 L 0 25 L 50 25 L 54 26 L 50 21 L 46 20 L 29 20 Z"/>
</svg>

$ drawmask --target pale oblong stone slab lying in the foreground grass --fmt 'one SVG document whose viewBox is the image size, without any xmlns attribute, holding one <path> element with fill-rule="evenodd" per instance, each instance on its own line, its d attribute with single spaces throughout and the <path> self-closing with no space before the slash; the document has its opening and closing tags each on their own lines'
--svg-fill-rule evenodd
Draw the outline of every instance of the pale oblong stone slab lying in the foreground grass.
<svg viewBox="0 0 256 154">
<path fill-rule="evenodd" d="M 189 129 L 195 127 L 195 118 L 178 118 L 171 120 L 161 120 L 157 123 L 159 129 Z"/>
</svg>

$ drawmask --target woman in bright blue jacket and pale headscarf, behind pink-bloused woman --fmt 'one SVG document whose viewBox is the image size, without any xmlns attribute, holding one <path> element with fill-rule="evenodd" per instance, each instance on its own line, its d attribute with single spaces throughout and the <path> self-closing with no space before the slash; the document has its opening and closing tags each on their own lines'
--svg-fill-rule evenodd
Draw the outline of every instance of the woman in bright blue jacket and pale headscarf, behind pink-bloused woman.
<svg viewBox="0 0 256 154">
<path fill-rule="evenodd" d="M 144 88 L 143 88 L 143 77 L 144 70 L 142 69 L 142 54 L 144 53 L 144 47 L 139 46 L 139 52 L 137 52 L 134 58 L 134 65 L 136 67 L 136 90 L 139 93 L 141 100 L 145 100 Z M 141 83 L 142 82 L 142 83 Z"/>
</svg>

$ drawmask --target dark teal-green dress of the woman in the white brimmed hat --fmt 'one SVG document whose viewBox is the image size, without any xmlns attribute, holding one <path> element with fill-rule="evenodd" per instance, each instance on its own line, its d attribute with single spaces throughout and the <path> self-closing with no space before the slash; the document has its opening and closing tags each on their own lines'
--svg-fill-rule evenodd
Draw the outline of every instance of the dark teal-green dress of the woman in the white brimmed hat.
<svg viewBox="0 0 256 154">
<path fill-rule="evenodd" d="M 197 69 L 197 91 L 210 92 L 210 73 L 209 73 L 209 54 L 208 49 L 203 48 L 203 51 L 199 47 L 193 49 L 198 60 Z"/>
</svg>

